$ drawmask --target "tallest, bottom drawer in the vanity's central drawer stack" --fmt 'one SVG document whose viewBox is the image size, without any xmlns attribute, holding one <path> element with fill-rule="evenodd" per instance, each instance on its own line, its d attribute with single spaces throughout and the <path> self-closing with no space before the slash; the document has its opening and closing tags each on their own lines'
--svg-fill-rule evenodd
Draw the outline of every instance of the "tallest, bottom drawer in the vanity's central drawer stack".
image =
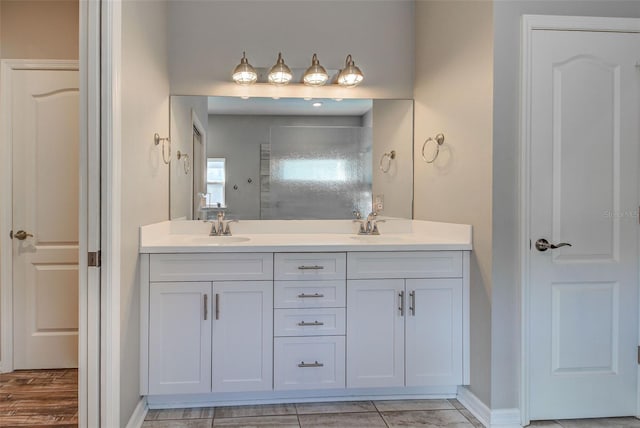
<svg viewBox="0 0 640 428">
<path fill-rule="evenodd" d="M 344 387 L 344 336 L 275 338 L 275 390 Z"/>
</svg>

